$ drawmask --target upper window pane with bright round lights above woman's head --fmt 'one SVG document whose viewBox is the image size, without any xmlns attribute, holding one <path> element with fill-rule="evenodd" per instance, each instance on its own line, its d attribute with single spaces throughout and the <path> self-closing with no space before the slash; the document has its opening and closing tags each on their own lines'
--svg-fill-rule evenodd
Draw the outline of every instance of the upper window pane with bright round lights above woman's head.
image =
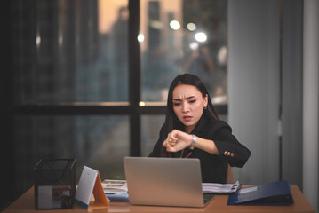
<svg viewBox="0 0 319 213">
<path fill-rule="evenodd" d="M 198 75 L 214 104 L 227 104 L 227 1 L 141 0 L 143 101 L 165 101 L 172 79 Z"/>
</svg>

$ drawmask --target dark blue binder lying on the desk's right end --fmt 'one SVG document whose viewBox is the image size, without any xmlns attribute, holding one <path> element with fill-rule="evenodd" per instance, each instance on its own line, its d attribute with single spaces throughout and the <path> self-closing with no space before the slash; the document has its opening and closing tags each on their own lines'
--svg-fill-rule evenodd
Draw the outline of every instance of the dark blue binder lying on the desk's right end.
<svg viewBox="0 0 319 213">
<path fill-rule="evenodd" d="M 229 195 L 228 205 L 287 206 L 293 203 L 288 181 L 242 188 Z"/>
</svg>

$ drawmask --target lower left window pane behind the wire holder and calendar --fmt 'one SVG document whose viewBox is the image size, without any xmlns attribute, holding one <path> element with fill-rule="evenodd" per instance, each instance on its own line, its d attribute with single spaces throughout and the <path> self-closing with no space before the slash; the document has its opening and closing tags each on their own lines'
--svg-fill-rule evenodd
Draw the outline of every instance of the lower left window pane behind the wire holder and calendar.
<svg viewBox="0 0 319 213">
<path fill-rule="evenodd" d="M 128 116 L 17 116 L 14 119 L 17 188 L 33 185 L 33 168 L 41 158 L 76 158 L 100 177 L 124 178 L 123 157 L 130 155 Z"/>
</svg>

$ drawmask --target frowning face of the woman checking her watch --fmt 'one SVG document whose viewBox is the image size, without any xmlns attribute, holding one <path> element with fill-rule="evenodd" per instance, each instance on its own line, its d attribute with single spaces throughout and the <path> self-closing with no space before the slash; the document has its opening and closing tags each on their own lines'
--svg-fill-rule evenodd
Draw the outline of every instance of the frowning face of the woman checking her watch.
<svg viewBox="0 0 319 213">
<path fill-rule="evenodd" d="M 194 130 L 202 117 L 203 108 L 207 106 L 207 95 L 203 95 L 193 85 L 179 84 L 172 91 L 172 105 L 179 121 L 186 127 L 186 132 Z"/>
</svg>

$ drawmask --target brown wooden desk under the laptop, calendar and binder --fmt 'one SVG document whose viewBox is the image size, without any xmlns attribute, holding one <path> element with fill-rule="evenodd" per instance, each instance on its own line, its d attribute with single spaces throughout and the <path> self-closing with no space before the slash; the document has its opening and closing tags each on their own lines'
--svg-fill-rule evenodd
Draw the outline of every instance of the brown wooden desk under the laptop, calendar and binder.
<svg viewBox="0 0 319 213">
<path fill-rule="evenodd" d="M 36 210 L 34 201 L 34 188 L 30 188 L 28 192 L 24 193 L 17 201 L 14 201 L 4 213 L 61 213 L 61 212 L 214 212 L 214 213 L 227 213 L 227 212 L 304 212 L 315 213 L 315 209 L 311 206 L 306 197 L 300 192 L 297 185 L 291 185 L 291 193 L 295 203 L 291 206 L 227 206 L 227 195 L 216 195 L 214 200 L 211 201 L 205 208 L 177 208 L 177 207 L 152 207 L 152 206 L 132 206 L 128 202 L 110 202 L 108 209 L 84 209 L 78 205 L 74 205 L 73 209 L 56 209 L 56 210 Z"/>
</svg>

